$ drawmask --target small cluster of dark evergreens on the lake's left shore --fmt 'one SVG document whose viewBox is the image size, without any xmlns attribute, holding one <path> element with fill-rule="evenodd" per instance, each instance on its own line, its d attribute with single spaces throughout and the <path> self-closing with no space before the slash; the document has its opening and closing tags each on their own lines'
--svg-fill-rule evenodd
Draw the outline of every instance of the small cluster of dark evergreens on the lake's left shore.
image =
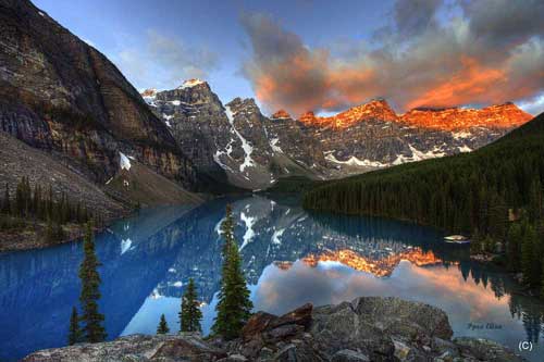
<svg viewBox="0 0 544 362">
<path fill-rule="evenodd" d="M 51 185 L 38 183 L 30 186 L 28 177 L 23 176 L 14 191 L 7 183 L 0 196 L 0 230 L 22 229 L 37 222 L 46 222 L 42 237 L 54 242 L 64 237 L 62 225 L 85 224 L 91 219 L 102 224 L 99 214 L 90 213 L 82 202 L 73 202 L 65 192 L 55 198 Z"/>
</svg>

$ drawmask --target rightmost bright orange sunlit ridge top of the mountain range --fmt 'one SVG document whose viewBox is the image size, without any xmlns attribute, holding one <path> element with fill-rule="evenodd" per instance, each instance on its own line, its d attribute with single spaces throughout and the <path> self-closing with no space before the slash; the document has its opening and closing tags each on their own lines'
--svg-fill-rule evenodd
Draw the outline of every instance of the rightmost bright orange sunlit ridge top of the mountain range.
<svg viewBox="0 0 544 362">
<path fill-rule="evenodd" d="M 418 127 L 442 130 L 462 130 L 472 127 L 511 128 L 530 121 L 532 115 L 516 104 L 490 105 L 482 109 L 418 108 L 405 113 L 400 121 Z"/>
</svg>

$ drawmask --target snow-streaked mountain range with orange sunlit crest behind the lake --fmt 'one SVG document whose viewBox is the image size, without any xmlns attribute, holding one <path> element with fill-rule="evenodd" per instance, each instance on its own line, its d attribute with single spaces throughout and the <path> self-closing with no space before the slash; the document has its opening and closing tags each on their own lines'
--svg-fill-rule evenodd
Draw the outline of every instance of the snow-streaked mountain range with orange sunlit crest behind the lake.
<svg viewBox="0 0 544 362">
<path fill-rule="evenodd" d="M 329 117 L 307 112 L 295 120 L 284 110 L 267 117 L 254 99 L 223 105 L 200 79 L 141 95 L 201 174 L 246 189 L 293 175 L 329 179 L 469 152 L 531 118 L 512 103 L 398 115 L 383 99 Z"/>
</svg>

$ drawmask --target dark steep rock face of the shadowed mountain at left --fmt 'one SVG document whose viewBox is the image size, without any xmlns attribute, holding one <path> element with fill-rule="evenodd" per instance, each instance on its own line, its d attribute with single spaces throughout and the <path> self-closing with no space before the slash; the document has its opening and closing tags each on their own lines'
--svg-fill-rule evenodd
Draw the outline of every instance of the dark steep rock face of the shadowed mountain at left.
<svg viewBox="0 0 544 362">
<path fill-rule="evenodd" d="M 118 171 L 120 150 L 195 182 L 168 128 L 119 70 L 29 1 L 0 1 L 0 63 L 1 130 L 98 183 Z"/>
</svg>

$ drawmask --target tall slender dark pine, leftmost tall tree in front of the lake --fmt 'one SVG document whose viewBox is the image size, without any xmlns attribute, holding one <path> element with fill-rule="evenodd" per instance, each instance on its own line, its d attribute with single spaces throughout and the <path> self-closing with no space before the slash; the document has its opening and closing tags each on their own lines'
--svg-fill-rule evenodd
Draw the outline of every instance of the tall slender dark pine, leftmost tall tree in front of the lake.
<svg viewBox="0 0 544 362">
<path fill-rule="evenodd" d="M 102 326 L 104 316 L 98 312 L 101 280 L 97 269 L 100 266 L 100 262 L 95 253 L 95 241 L 90 224 L 86 225 L 83 248 L 85 255 L 79 266 L 79 278 L 82 279 L 79 301 L 83 309 L 82 321 L 85 323 L 83 330 L 85 341 L 96 344 L 106 339 L 106 330 Z"/>
</svg>

